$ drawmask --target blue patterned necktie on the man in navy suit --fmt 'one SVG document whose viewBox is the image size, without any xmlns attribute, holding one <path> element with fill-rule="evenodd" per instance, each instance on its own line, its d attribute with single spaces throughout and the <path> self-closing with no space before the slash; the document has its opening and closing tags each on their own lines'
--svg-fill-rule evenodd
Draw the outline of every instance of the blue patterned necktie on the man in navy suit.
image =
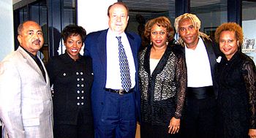
<svg viewBox="0 0 256 138">
<path fill-rule="evenodd" d="M 127 55 L 124 51 L 124 45 L 121 43 L 121 37 L 116 37 L 118 39 L 118 58 L 121 74 L 121 86 L 125 91 L 129 91 L 131 88 L 131 77 L 129 76 L 129 64 L 127 60 Z"/>
</svg>

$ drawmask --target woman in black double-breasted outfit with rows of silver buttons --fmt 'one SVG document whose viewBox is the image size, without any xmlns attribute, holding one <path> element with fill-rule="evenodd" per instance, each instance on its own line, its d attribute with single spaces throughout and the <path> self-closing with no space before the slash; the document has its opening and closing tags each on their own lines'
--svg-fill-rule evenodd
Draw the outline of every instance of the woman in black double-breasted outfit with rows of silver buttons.
<svg viewBox="0 0 256 138">
<path fill-rule="evenodd" d="M 53 85 L 53 134 L 55 138 L 93 137 L 91 58 L 79 54 L 86 30 L 69 25 L 61 37 L 66 51 L 51 58 L 47 65 Z"/>
</svg>

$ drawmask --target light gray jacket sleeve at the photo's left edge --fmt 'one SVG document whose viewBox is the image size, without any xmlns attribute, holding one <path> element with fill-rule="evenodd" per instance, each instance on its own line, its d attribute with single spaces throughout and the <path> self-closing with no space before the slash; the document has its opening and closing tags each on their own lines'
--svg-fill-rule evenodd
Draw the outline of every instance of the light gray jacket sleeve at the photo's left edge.
<svg viewBox="0 0 256 138">
<path fill-rule="evenodd" d="M 21 80 L 17 66 L 0 64 L 0 117 L 8 137 L 26 137 L 21 116 Z"/>
</svg>

